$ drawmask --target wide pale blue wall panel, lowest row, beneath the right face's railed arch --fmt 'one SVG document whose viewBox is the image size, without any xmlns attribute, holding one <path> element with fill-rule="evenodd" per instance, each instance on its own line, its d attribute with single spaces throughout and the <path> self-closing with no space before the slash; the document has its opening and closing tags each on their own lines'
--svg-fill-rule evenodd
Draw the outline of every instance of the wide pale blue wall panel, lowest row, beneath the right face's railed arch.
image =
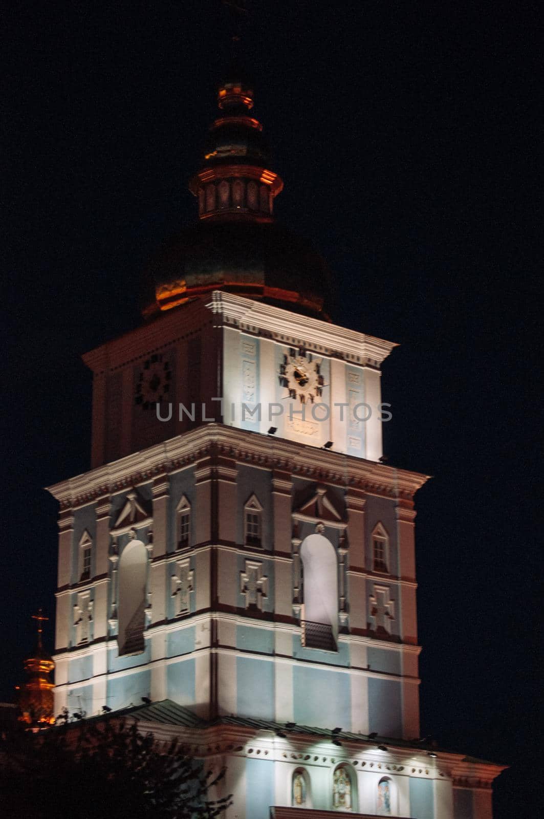
<svg viewBox="0 0 544 819">
<path fill-rule="evenodd" d="M 298 665 L 292 670 L 292 685 L 293 719 L 299 725 L 351 729 L 349 674 Z"/>
</svg>

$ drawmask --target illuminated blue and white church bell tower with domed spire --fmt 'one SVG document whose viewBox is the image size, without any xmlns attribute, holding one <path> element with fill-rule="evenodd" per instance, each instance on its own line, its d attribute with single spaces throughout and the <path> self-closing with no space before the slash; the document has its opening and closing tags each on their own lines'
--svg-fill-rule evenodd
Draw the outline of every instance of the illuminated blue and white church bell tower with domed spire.
<svg viewBox="0 0 544 819">
<path fill-rule="evenodd" d="M 218 103 L 145 322 L 84 356 L 92 469 L 50 487 L 56 713 L 188 732 L 227 765 L 229 817 L 490 817 L 496 767 L 414 745 L 427 477 L 382 461 L 395 345 L 330 323 L 237 66 Z"/>
</svg>

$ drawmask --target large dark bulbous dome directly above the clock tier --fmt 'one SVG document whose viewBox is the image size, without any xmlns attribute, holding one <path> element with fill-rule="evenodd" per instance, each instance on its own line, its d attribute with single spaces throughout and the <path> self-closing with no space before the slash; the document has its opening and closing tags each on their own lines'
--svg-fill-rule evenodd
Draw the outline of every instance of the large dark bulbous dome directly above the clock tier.
<svg viewBox="0 0 544 819">
<path fill-rule="evenodd" d="M 165 243 L 147 267 L 143 289 L 145 314 L 157 312 L 161 292 L 164 310 L 228 290 L 315 315 L 329 292 L 330 272 L 305 239 L 281 224 L 205 219 Z M 175 293 L 170 304 L 169 292 Z"/>
</svg>

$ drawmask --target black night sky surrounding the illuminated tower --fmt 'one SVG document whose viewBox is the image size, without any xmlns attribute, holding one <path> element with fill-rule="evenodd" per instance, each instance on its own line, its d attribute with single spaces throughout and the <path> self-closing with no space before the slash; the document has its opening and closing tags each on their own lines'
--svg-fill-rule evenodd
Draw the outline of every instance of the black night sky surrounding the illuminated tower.
<svg viewBox="0 0 544 819">
<path fill-rule="evenodd" d="M 30 614 L 54 612 L 57 509 L 42 487 L 89 466 L 79 356 L 139 324 L 140 270 L 196 217 L 187 180 L 229 52 L 211 0 L 13 6 L 3 700 Z M 422 734 L 513 765 L 496 817 L 533 817 L 538 4 L 252 6 L 244 48 L 285 182 L 277 215 L 329 260 L 333 319 L 401 343 L 383 368 L 385 450 L 435 476 L 417 497 Z M 51 622 L 46 634 L 52 646 Z"/>
</svg>

